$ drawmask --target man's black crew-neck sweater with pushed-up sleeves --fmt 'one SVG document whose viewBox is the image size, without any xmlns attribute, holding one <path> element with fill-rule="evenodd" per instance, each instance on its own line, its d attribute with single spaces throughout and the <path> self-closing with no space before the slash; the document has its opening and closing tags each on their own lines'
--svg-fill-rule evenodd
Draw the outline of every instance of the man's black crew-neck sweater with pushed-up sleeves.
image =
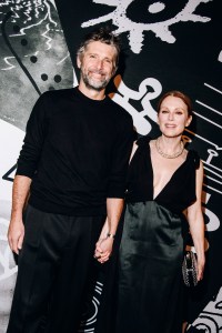
<svg viewBox="0 0 222 333">
<path fill-rule="evenodd" d="M 110 98 L 78 88 L 44 92 L 27 123 L 17 174 L 32 179 L 29 203 L 67 215 L 105 213 L 123 198 L 133 141 L 132 118 Z"/>
</svg>

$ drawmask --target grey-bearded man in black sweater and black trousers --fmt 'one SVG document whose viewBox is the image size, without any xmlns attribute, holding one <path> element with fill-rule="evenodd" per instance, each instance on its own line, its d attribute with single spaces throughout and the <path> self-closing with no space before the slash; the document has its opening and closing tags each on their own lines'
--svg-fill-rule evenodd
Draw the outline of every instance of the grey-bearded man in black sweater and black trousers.
<svg viewBox="0 0 222 333">
<path fill-rule="evenodd" d="M 105 29 L 87 36 L 79 87 L 43 93 L 28 121 L 8 232 L 19 254 L 8 333 L 77 332 L 93 254 L 112 252 L 133 140 L 131 117 L 105 95 L 119 51 Z"/>
</svg>

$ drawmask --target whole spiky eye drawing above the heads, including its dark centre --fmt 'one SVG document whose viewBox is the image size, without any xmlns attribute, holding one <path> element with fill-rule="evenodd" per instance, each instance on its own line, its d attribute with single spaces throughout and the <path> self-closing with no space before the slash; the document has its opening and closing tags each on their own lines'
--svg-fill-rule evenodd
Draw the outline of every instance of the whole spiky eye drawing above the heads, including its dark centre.
<svg viewBox="0 0 222 333">
<path fill-rule="evenodd" d="M 181 1 L 165 0 L 149 1 L 142 0 L 113 0 L 115 10 L 100 18 L 91 19 L 81 24 L 82 28 L 98 24 L 100 22 L 112 20 L 113 24 L 119 27 L 118 33 L 128 32 L 128 39 L 131 50 L 140 53 L 143 47 L 145 31 L 152 31 L 157 38 L 168 43 L 174 43 L 175 37 L 170 30 L 171 26 L 179 22 L 209 22 L 211 18 L 202 17 L 195 13 L 196 7 L 201 2 L 211 0 L 186 0 Z M 93 0 L 93 2 L 110 3 L 110 0 Z M 180 2 L 180 3 L 178 3 Z M 168 3 L 168 6 L 165 6 Z"/>
</svg>

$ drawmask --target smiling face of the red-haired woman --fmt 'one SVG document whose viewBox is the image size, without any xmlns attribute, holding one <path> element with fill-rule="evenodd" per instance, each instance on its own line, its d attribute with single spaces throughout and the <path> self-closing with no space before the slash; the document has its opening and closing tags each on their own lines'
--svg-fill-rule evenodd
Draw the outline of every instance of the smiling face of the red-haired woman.
<svg viewBox="0 0 222 333">
<path fill-rule="evenodd" d="M 161 103 L 158 113 L 160 131 L 169 138 L 179 137 L 190 124 L 192 117 L 188 114 L 188 107 L 182 99 L 168 95 Z"/>
</svg>

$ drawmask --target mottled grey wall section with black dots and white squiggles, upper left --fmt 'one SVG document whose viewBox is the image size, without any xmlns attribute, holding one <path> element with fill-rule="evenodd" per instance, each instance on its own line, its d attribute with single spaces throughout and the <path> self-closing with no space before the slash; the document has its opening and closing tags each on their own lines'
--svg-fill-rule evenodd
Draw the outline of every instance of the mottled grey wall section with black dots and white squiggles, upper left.
<svg viewBox="0 0 222 333">
<path fill-rule="evenodd" d="M 38 95 L 72 87 L 73 67 L 54 1 L 0 0 L 0 118 L 24 130 Z"/>
</svg>

